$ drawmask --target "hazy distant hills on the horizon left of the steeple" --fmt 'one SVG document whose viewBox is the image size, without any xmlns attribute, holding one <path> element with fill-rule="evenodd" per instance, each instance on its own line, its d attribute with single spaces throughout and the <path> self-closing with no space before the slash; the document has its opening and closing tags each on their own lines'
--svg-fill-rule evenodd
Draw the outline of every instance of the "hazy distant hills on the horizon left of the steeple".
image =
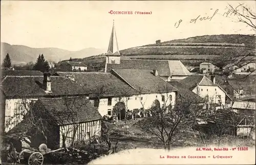
<svg viewBox="0 0 256 165">
<path fill-rule="evenodd" d="M 54 47 L 49 48 L 31 48 L 24 45 L 10 45 L 5 42 L 1 42 L 1 63 L 4 57 L 9 53 L 12 64 L 28 63 L 30 61 L 35 62 L 39 54 L 44 54 L 48 61 L 58 62 L 60 60 L 66 60 L 71 58 L 85 58 L 101 54 L 105 50 L 97 48 L 85 48 L 78 51 L 69 51 L 65 49 L 59 49 Z"/>
</svg>

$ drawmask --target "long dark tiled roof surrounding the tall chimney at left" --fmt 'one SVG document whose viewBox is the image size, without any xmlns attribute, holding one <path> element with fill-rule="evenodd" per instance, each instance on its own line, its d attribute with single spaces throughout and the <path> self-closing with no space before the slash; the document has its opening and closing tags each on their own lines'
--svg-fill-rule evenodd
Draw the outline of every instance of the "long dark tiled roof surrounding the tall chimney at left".
<svg viewBox="0 0 256 165">
<path fill-rule="evenodd" d="M 59 95 L 82 95 L 87 91 L 76 82 L 60 76 L 51 76 L 52 93 L 46 93 L 42 88 L 43 76 L 7 76 L 1 85 L 5 96 L 59 96 Z"/>
</svg>

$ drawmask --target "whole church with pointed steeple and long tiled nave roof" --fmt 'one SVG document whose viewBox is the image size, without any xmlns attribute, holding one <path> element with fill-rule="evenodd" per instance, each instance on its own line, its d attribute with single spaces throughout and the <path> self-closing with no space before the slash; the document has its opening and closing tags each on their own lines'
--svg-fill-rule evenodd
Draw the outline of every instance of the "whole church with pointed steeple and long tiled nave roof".
<svg viewBox="0 0 256 165">
<path fill-rule="evenodd" d="M 110 72 L 111 69 L 157 70 L 158 75 L 165 81 L 170 81 L 170 79 L 184 79 L 192 74 L 180 60 L 140 60 L 123 58 L 118 49 L 114 23 L 105 57 L 105 72 Z"/>
</svg>

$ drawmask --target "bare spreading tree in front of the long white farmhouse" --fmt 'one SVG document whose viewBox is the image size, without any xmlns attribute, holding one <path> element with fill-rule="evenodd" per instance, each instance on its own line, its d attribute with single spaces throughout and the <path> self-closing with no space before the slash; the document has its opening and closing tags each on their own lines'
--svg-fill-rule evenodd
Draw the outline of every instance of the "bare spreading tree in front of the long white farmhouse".
<svg viewBox="0 0 256 165">
<path fill-rule="evenodd" d="M 167 96 L 163 105 L 152 107 L 152 117 L 143 119 L 139 126 L 143 131 L 158 137 L 164 148 L 170 150 L 172 144 L 181 139 L 183 132 L 191 128 L 195 115 L 203 113 L 200 113 L 202 109 L 199 108 L 194 115 L 191 115 L 194 111 L 193 103 L 177 99 L 173 107 L 168 93 L 161 92 L 161 95 Z"/>
</svg>

